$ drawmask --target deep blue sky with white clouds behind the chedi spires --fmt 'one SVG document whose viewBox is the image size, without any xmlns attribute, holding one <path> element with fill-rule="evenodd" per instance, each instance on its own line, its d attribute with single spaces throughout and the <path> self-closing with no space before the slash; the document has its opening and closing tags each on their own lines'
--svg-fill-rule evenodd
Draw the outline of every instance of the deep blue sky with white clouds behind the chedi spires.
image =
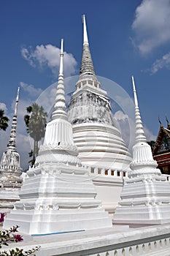
<svg viewBox="0 0 170 256">
<path fill-rule="evenodd" d="M 79 74 L 82 14 L 86 15 L 96 75 L 115 81 L 130 97 L 134 75 L 148 139 L 158 134 L 158 116 L 164 125 L 166 115 L 170 120 L 170 0 L 1 1 L 0 108 L 12 118 L 20 86 L 17 140 L 23 166 L 28 162 L 25 108 L 57 80 L 61 38 L 66 51 L 65 77 Z M 1 131 L 1 151 L 8 132 Z"/>
</svg>

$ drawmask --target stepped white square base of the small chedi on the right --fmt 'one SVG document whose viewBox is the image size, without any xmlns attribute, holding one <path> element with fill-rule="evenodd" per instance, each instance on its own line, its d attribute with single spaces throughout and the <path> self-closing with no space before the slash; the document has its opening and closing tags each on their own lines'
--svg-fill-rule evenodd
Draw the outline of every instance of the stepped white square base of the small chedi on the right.
<svg viewBox="0 0 170 256">
<path fill-rule="evenodd" d="M 149 168 L 131 171 L 136 177 L 125 180 L 121 200 L 116 208 L 114 223 L 127 225 L 156 225 L 170 222 L 170 184 L 160 170 Z M 139 173 L 139 175 L 138 175 Z"/>
</svg>

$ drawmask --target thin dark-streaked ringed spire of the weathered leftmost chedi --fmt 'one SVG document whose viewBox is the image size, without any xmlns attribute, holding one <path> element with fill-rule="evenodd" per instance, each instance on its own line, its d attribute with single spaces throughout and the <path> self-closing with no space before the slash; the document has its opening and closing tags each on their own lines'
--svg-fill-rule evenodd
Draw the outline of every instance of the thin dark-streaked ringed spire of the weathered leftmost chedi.
<svg viewBox="0 0 170 256">
<path fill-rule="evenodd" d="M 7 144 L 7 150 L 17 151 L 16 148 L 16 128 L 17 128 L 17 114 L 18 114 L 18 101 L 19 101 L 20 87 L 18 87 L 17 97 L 15 101 L 15 111 L 12 118 L 12 129 L 10 132 L 9 143 Z"/>
</svg>

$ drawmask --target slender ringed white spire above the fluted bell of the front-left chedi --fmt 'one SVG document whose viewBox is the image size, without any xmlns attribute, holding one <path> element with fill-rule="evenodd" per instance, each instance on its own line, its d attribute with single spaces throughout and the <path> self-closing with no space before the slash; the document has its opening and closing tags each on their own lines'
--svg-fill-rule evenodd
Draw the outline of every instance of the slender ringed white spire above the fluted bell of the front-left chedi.
<svg viewBox="0 0 170 256">
<path fill-rule="evenodd" d="M 63 39 L 61 39 L 60 67 L 54 108 L 52 119 L 63 118 L 67 120 L 66 98 L 63 84 Z"/>
</svg>

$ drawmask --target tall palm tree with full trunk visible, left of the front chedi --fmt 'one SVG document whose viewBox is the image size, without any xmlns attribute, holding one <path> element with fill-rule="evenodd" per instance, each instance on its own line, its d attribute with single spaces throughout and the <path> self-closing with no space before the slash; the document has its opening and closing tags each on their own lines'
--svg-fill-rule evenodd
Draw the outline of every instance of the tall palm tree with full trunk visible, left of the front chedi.
<svg viewBox="0 0 170 256">
<path fill-rule="evenodd" d="M 39 106 L 37 103 L 29 106 L 26 110 L 29 114 L 24 116 L 24 121 L 27 127 L 26 131 L 34 140 L 34 148 L 29 152 L 29 157 L 33 157 L 30 161 L 33 166 L 39 151 L 39 141 L 45 137 L 47 113 L 44 108 Z"/>
</svg>

